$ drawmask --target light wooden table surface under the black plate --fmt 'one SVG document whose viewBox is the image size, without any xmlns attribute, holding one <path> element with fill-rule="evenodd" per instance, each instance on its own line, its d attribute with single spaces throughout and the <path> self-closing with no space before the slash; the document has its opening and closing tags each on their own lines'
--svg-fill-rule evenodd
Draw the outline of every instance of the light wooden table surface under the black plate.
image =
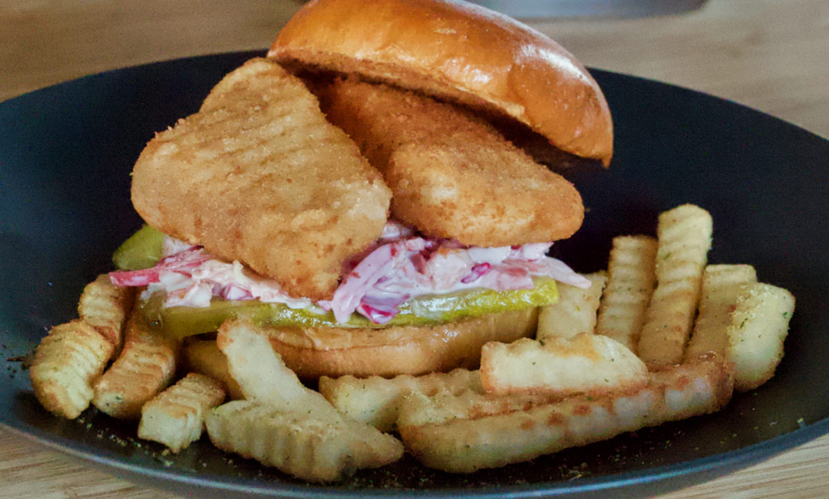
<svg viewBox="0 0 829 499">
<path fill-rule="evenodd" d="M 127 65 L 269 45 L 298 2 L 0 0 L 0 99 Z M 829 136 L 829 2 L 710 0 L 638 19 L 529 20 L 586 65 L 733 99 Z M 829 436 L 664 497 L 826 497 Z M 2 497 L 172 497 L 0 430 Z"/>
</svg>

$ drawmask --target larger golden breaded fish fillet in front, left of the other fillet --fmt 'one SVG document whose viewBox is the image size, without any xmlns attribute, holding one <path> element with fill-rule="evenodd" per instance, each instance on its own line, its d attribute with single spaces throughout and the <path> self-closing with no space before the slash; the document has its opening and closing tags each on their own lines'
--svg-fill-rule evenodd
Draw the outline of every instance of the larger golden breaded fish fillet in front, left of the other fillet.
<svg viewBox="0 0 829 499">
<path fill-rule="evenodd" d="M 302 81 L 257 58 L 148 143 L 132 197 L 149 225 L 322 299 L 381 235 L 391 193 Z"/>
</svg>

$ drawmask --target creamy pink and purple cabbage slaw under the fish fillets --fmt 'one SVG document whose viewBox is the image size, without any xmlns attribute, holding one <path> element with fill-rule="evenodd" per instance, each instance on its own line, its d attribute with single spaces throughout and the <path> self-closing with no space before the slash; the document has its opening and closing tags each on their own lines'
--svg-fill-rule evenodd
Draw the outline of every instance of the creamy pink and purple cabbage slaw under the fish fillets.
<svg viewBox="0 0 829 499">
<path fill-rule="evenodd" d="M 546 276 L 580 288 L 590 282 L 559 259 L 547 256 L 552 243 L 483 248 L 453 240 L 430 240 L 389 221 L 383 235 L 363 254 L 347 262 L 332 299 L 314 303 L 284 293 L 279 283 L 255 274 L 238 261 L 215 259 L 199 246 L 165 236 L 164 257 L 154 267 L 109 274 L 118 286 L 146 286 L 142 298 L 167 294 L 165 307 L 207 307 L 211 299 L 258 299 L 290 308 L 331 311 L 337 322 L 357 312 L 382 324 L 410 298 L 463 289 L 496 291 L 533 288 L 533 277 Z"/>
</svg>

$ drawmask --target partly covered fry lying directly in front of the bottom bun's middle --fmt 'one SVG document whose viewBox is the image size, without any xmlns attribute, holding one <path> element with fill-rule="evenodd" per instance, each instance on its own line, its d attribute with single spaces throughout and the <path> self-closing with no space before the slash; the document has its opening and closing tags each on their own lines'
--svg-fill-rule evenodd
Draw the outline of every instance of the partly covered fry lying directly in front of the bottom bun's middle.
<svg viewBox="0 0 829 499">
<path fill-rule="evenodd" d="M 455 369 L 448 373 L 428 375 L 397 375 L 394 378 L 351 375 L 319 379 L 319 391 L 342 414 L 389 432 L 395 428 L 397 413 L 405 395 L 413 391 L 434 395 L 439 391 L 459 393 L 473 390 L 483 393 L 478 371 Z"/>
</svg>

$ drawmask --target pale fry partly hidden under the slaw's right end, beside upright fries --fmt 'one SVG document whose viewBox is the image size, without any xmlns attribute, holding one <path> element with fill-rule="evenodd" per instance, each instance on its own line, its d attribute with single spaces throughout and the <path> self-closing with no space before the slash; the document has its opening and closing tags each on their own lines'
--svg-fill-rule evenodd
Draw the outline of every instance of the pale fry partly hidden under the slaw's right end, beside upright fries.
<svg viewBox="0 0 829 499">
<path fill-rule="evenodd" d="M 536 339 L 573 337 L 579 332 L 594 332 L 596 311 L 606 281 L 604 271 L 584 275 L 589 288 L 559 283 L 559 301 L 541 308 L 538 314 Z"/>
</svg>

